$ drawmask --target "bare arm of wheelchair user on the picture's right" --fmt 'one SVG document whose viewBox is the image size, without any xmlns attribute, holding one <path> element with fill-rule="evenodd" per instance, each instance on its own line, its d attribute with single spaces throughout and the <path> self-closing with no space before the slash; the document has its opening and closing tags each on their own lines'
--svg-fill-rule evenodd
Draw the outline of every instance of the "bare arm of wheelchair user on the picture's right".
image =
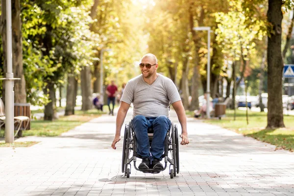
<svg viewBox="0 0 294 196">
<path fill-rule="evenodd" d="M 180 137 L 182 138 L 181 145 L 189 144 L 188 133 L 187 133 L 187 119 L 186 119 L 186 113 L 185 113 L 183 103 L 181 100 L 176 101 L 172 103 L 172 107 L 175 110 L 178 116 L 178 120 L 182 127 L 182 134 L 180 135 Z"/>
</svg>

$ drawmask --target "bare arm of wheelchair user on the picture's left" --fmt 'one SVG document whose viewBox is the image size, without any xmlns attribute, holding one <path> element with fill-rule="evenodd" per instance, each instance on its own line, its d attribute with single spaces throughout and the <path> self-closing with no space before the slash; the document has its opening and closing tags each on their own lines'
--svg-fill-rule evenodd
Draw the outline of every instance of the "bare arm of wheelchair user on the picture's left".
<svg viewBox="0 0 294 196">
<path fill-rule="evenodd" d="M 111 147 L 113 149 L 116 149 L 115 145 L 121 140 L 121 129 L 123 126 L 123 121 L 125 119 L 126 113 L 130 107 L 130 104 L 126 102 L 121 102 L 121 106 L 119 108 L 118 114 L 117 114 L 117 120 L 116 120 L 116 132 L 115 132 L 115 137 L 114 140 L 111 144 Z"/>
</svg>

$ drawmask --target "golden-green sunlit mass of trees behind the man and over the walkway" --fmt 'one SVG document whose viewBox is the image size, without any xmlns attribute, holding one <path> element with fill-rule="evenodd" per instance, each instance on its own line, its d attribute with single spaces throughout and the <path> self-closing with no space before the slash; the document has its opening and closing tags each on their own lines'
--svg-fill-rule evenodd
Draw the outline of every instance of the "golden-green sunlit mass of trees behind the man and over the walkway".
<svg viewBox="0 0 294 196">
<path fill-rule="evenodd" d="M 195 100 L 198 93 L 206 90 L 207 32 L 195 31 L 194 27 L 212 29 L 210 90 L 213 96 L 215 93 L 225 95 L 220 84 L 227 83 L 227 91 L 230 91 L 233 78 L 229 76 L 233 69 L 241 80 L 251 80 L 251 85 L 258 83 L 256 72 L 261 69 L 265 45 L 282 32 L 282 25 L 270 21 L 271 8 L 288 16 L 293 7 L 292 0 L 20 2 L 28 102 L 49 104 L 54 98 L 48 93 L 55 91 L 58 85 L 64 86 L 69 74 L 74 73 L 79 82 L 83 80 L 79 73 L 84 67 L 91 71 L 92 92 L 97 92 L 100 77 L 103 85 L 115 79 L 121 86 L 140 73 L 138 61 L 150 52 L 158 58 L 158 72 L 172 78 L 178 87 L 187 109 L 189 104 L 191 109 L 197 107 L 197 102 L 189 103 L 189 96 Z M 283 26 L 288 27 L 289 16 L 283 22 Z M 286 39 L 285 34 L 282 39 Z M 103 49 L 111 51 L 103 53 L 100 59 Z M 2 56 L 1 77 L 4 76 Z M 291 54 L 288 53 L 287 58 L 290 59 Z M 104 75 L 99 74 L 101 61 Z M 223 78 L 227 78 L 226 81 Z M 256 94 L 256 88 L 249 88 L 249 93 Z"/>
</svg>

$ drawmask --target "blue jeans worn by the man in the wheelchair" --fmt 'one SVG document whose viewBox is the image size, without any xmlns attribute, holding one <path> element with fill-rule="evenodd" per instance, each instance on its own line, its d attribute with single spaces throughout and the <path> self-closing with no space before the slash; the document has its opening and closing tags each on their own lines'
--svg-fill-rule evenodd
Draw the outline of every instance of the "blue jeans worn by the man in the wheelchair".
<svg viewBox="0 0 294 196">
<path fill-rule="evenodd" d="M 147 129 L 151 127 L 154 132 L 150 147 Z M 137 154 L 143 158 L 150 158 L 151 161 L 154 159 L 162 160 L 161 155 L 164 151 L 164 140 L 168 130 L 171 128 L 170 119 L 164 115 L 156 118 L 137 115 L 132 121 L 132 128 L 137 138 Z"/>
</svg>

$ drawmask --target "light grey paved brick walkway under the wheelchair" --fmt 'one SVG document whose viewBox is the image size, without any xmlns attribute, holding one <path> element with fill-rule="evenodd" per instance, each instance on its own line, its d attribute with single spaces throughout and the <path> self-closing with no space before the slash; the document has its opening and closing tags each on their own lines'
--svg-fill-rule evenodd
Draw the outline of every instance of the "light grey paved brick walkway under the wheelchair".
<svg viewBox="0 0 294 196">
<path fill-rule="evenodd" d="M 176 177 L 132 166 L 127 179 L 123 140 L 110 147 L 115 118 L 104 115 L 61 137 L 17 140 L 41 141 L 32 147 L 1 147 L 0 195 L 294 196 L 294 153 L 195 119 L 188 119 L 191 143 L 180 146 Z"/>
</svg>

